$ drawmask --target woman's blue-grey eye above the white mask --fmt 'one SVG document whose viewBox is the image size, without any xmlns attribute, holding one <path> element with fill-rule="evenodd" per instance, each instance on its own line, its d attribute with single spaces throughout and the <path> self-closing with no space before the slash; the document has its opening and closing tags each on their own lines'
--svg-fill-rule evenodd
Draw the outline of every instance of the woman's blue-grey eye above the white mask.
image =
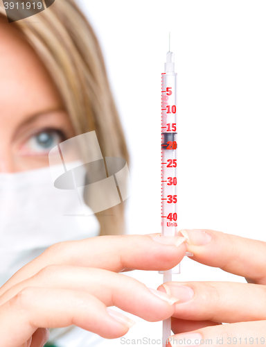
<svg viewBox="0 0 266 347">
<path fill-rule="evenodd" d="M 44 130 L 32 135 L 20 149 L 21 155 L 46 155 L 60 142 L 64 141 L 63 135 L 57 130 Z"/>
</svg>

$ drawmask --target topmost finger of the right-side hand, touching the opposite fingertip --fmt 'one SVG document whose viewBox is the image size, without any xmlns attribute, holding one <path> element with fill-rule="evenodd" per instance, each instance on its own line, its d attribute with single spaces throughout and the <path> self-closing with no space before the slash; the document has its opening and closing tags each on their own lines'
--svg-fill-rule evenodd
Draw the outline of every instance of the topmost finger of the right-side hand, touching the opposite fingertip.
<svg viewBox="0 0 266 347">
<path fill-rule="evenodd" d="M 191 259 L 266 284 L 266 242 L 214 230 L 180 230 Z"/>
</svg>

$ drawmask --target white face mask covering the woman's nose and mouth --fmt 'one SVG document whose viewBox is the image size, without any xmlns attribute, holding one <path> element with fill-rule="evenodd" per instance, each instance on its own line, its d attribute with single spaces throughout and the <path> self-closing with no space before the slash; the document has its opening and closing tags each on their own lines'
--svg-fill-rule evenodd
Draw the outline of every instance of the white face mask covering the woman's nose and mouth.
<svg viewBox="0 0 266 347">
<path fill-rule="evenodd" d="M 97 236 L 91 213 L 76 190 L 54 187 L 49 167 L 0 174 L 0 285 L 48 246 Z"/>
</svg>

